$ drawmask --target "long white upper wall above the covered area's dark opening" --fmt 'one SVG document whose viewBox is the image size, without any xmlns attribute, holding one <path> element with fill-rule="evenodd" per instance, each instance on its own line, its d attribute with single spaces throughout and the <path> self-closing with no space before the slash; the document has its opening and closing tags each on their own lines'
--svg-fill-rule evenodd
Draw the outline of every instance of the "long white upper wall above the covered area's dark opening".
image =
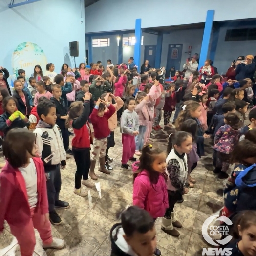
<svg viewBox="0 0 256 256">
<path fill-rule="evenodd" d="M 200 23 L 205 22 L 207 10 L 215 10 L 214 21 L 255 18 L 255 0 L 186 0 L 183 4 L 175 11 L 175 0 L 161 0 L 159 4 L 154 0 L 101 0 L 85 8 L 85 30 L 134 29 L 138 18 L 142 19 L 142 28 Z"/>
</svg>

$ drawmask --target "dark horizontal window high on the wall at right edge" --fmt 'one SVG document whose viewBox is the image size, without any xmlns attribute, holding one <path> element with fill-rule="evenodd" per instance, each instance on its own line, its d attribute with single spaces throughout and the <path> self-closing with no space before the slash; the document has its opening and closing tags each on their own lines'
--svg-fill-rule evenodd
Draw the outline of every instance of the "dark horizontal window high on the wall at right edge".
<svg viewBox="0 0 256 256">
<path fill-rule="evenodd" d="M 256 40 L 256 28 L 227 29 L 225 41 Z"/>
</svg>

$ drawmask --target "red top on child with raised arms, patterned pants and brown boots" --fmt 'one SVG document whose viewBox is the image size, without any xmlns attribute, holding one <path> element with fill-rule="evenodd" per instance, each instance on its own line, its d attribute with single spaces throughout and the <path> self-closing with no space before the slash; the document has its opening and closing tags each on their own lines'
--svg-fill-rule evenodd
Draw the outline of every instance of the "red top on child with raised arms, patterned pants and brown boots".
<svg viewBox="0 0 256 256">
<path fill-rule="evenodd" d="M 96 107 L 96 106 L 95 106 Z M 107 106 L 108 111 L 104 113 L 103 117 L 99 117 L 98 109 L 94 108 L 90 115 L 90 120 L 94 128 L 94 137 L 96 139 L 107 138 L 110 134 L 110 129 L 108 127 L 108 119 L 115 113 L 116 109 L 112 104 Z"/>
</svg>

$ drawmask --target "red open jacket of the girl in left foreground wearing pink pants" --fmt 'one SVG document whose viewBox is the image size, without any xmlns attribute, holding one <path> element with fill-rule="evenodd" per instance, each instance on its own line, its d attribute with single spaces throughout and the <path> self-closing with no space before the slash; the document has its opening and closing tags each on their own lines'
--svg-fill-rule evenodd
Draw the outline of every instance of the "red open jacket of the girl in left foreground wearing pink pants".
<svg viewBox="0 0 256 256">
<path fill-rule="evenodd" d="M 41 158 L 33 158 L 37 170 L 37 207 L 36 212 L 49 213 L 46 192 L 46 178 Z M 10 225 L 26 225 L 30 221 L 30 206 L 25 180 L 18 169 L 8 162 L 0 173 L 0 232 L 4 220 Z"/>
</svg>

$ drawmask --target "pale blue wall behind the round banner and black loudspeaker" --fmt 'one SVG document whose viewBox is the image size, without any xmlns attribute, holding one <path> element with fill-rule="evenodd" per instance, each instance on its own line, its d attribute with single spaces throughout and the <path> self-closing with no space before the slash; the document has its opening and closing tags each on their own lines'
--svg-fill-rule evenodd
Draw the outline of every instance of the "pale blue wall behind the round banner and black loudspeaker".
<svg viewBox="0 0 256 256">
<path fill-rule="evenodd" d="M 21 0 L 15 1 L 18 2 Z M 70 41 L 79 41 L 80 57 L 76 57 L 76 64 L 84 61 L 84 0 L 42 0 L 15 8 L 8 8 L 9 3 L 10 0 L 0 0 L 0 24 L 4 24 L 1 26 L 0 65 L 11 74 L 12 62 L 15 60 L 12 60 L 13 52 L 23 42 L 36 43 L 41 47 L 45 58 L 43 63 L 55 64 L 57 73 L 61 71 L 64 60 L 69 59 Z M 37 58 L 35 51 L 31 48 L 29 51 L 22 62 L 26 63 L 23 69 L 27 71 L 28 77 L 39 61 L 33 59 Z M 18 60 L 18 53 L 14 57 Z M 73 60 L 73 57 L 70 58 L 71 66 L 74 66 Z M 45 66 L 42 68 L 45 69 Z"/>
</svg>

